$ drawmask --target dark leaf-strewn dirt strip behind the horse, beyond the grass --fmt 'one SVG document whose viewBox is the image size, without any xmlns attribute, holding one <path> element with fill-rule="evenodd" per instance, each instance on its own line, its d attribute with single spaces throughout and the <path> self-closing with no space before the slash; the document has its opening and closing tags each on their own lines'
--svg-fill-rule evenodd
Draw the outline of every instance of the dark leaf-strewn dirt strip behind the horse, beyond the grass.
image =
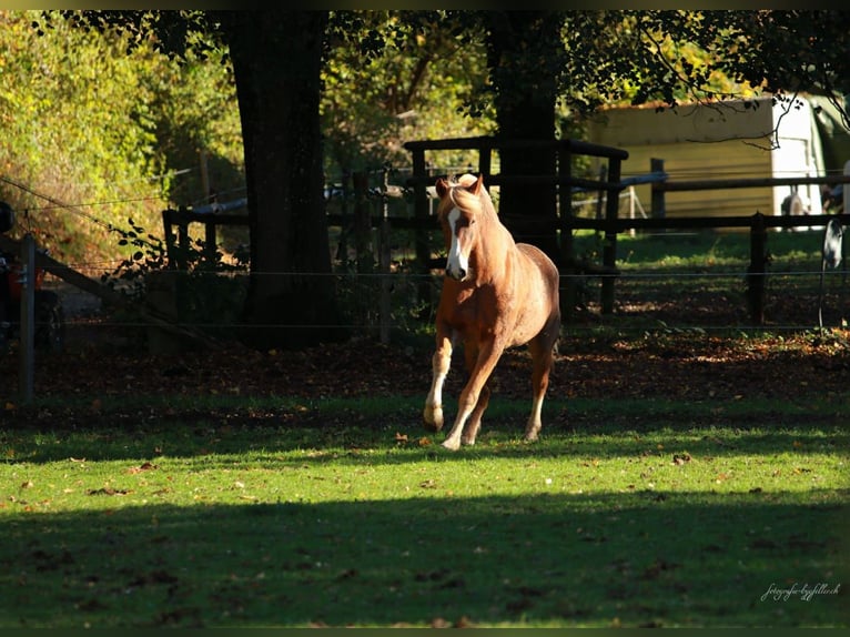
<svg viewBox="0 0 850 637">
<path fill-rule="evenodd" d="M 104 322 L 97 300 L 63 299 L 69 315 L 68 346 L 60 354 L 37 356 L 34 394 L 39 398 L 217 394 L 311 398 L 404 395 L 424 400 L 431 383 L 432 344 L 427 338 L 415 345 L 355 338 L 298 352 L 257 352 L 225 344 L 152 355 L 144 343 L 127 338 L 121 328 Z M 594 320 L 588 316 L 580 320 L 587 324 Z M 549 396 L 717 402 L 799 397 L 817 402 L 850 390 L 848 330 L 758 338 L 688 330 L 654 330 L 629 336 L 613 331 L 600 336 L 593 330 L 575 334 L 558 345 Z M 0 378 L 0 398 L 9 407 L 18 393 L 17 354 L 7 353 L 3 363 L 12 372 Z M 458 356 L 446 392 L 456 396 L 463 381 Z M 492 386 L 503 396 L 530 395 L 530 365 L 524 348 L 503 356 Z"/>
</svg>

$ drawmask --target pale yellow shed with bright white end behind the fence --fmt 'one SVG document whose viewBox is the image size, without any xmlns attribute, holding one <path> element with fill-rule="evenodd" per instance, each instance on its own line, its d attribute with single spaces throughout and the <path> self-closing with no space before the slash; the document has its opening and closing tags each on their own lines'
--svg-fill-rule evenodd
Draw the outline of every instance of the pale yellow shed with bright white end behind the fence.
<svg viewBox="0 0 850 637">
<path fill-rule="evenodd" d="M 778 135 L 775 135 L 777 124 Z M 608 109 L 588 129 L 588 141 L 628 151 L 623 178 L 651 171 L 652 158 L 664 160 L 668 181 L 817 175 L 820 144 L 808 103 L 799 108 L 758 108 L 743 102 L 680 107 L 677 113 L 654 108 Z M 650 214 L 651 190 L 637 185 L 637 196 Z M 812 213 L 821 212 L 819 188 L 799 186 Z M 731 216 L 781 214 L 790 186 L 700 190 L 665 194 L 667 216 Z"/>
</svg>

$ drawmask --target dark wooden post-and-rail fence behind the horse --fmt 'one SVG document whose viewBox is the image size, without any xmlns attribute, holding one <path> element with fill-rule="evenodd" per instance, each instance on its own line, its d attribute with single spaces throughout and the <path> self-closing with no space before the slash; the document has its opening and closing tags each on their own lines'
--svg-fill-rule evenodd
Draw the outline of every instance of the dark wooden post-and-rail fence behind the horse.
<svg viewBox="0 0 850 637">
<path fill-rule="evenodd" d="M 506 184 L 539 184 L 556 185 L 558 210 L 570 211 L 570 214 L 559 214 L 557 219 L 545 220 L 554 224 L 548 230 L 559 232 L 560 253 L 558 266 L 564 275 L 563 305 L 565 315 L 568 315 L 575 300 L 571 274 L 591 274 L 600 277 L 600 306 L 604 314 L 614 312 L 615 284 L 619 274 L 617 261 L 617 237 L 624 232 L 667 231 L 667 230 L 699 230 L 699 229 L 730 229 L 746 228 L 750 232 L 750 265 L 749 279 L 749 305 L 751 320 L 756 324 L 763 322 L 765 305 L 765 275 L 767 273 L 767 231 L 769 229 L 791 229 L 799 226 L 826 226 L 830 219 L 838 218 L 842 225 L 850 226 L 850 214 L 844 212 L 840 215 L 795 215 L 776 216 L 763 215 L 755 211 L 752 215 L 742 216 L 687 216 L 667 218 L 665 214 L 665 193 L 688 190 L 726 190 L 782 185 L 801 185 L 807 183 L 837 184 L 850 183 L 850 175 L 833 176 L 802 176 L 802 178 L 765 178 L 765 179 L 717 179 L 717 180 L 691 180 L 669 181 L 664 172 L 662 162 L 652 165 L 652 171 L 640 178 L 621 179 L 621 162 L 628 158 L 628 153 L 621 149 L 601 146 L 576 140 L 509 140 L 499 141 L 495 138 L 457 138 L 447 140 L 413 141 L 405 144 L 405 149 L 412 153 L 413 174 L 406 180 L 405 185 L 413 192 L 413 216 L 391 216 L 387 209 L 386 179 L 383 189 L 380 189 L 377 199 L 381 200 L 380 210 L 375 210 L 371 196 L 367 179 L 365 175 L 355 175 L 353 180 L 354 210 L 353 214 L 328 214 L 330 225 L 354 225 L 355 242 L 357 249 L 366 241 L 373 229 L 378 229 L 377 261 L 378 272 L 388 274 L 389 253 L 386 240 L 392 230 L 408 230 L 414 234 L 415 272 L 423 274 L 418 284 L 418 299 L 425 304 L 432 303 L 432 284 L 425 274 L 434 269 L 442 267 L 442 260 L 434 259 L 431 252 L 432 235 L 438 231 L 438 225 L 431 214 L 427 188 L 433 185 L 437 176 L 446 176 L 433 173 L 425 161 L 427 151 L 441 150 L 476 150 L 478 152 L 478 171 L 486 176 L 488 185 L 498 186 Z M 554 151 L 556 156 L 556 174 L 553 175 L 506 175 L 492 173 L 493 153 L 506 149 L 532 149 Z M 574 155 L 587 155 L 607 160 L 607 170 L 603 171 L 599 179 L 584 179 L 571 174 L 571 159 Z M 635 183 L 650 182 L 652 188 L 652 213 L 649 219 L 624 219 L 619 216 L 619 194 Z M 573 195 L 577 192 L 598 192 L 604 201 L 604 215 L 596 219 L 578 218 L 571 214 Z M 243 204 L 244 205 L 244 204 Z M 214 252 L 215 225 L 217 224 L 245 224 L 246 216 L 222 214 L 217 211 L 164 211 L 165 236 L 169 245 L 169 254 L 188 241 L 188 225 L 190 223 L 203 223 L 206 226 L 208 247 Z M 178 228 L 176 244 L 173 226 Z M 573 232 L 577 229 L 589 229 L 604 234 L 604 249 L 600 264 L 578 263 L 573 251 Z M 175 263 L 180 266 L 180 250 L 174 252 Z M 388 300 L 382 296 L 382 306 Z M 382 312 L 382 315 L 384 313 Z M 387 312 L 388 314 L 388 312 Z M 387 334 L 388 324 L 382 320 L 382 335 Z M 382 336 L 383 338 L 384 336 Z"/>
</svg>

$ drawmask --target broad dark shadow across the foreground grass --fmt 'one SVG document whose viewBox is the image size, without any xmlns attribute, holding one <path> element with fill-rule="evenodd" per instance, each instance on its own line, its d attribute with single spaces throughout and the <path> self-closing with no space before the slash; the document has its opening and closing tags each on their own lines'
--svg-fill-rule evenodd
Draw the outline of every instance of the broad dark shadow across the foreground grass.
<svg viewBox="0 0 850 637">
<path fill-rule="evenodd" d="M 847 626 L 846 514 L 817 491 L 117 499 L 4 516 L 0 627 Z"/>
</svg>

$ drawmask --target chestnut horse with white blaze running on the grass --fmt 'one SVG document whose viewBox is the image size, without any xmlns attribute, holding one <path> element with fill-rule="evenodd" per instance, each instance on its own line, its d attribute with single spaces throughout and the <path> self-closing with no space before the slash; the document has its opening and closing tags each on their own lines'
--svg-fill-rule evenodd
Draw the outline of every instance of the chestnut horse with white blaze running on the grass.
<svg viewBox="0 0 850 637">
<path fill-rule="evenodd" d="M 549 384 L 554 347 L 560 331 L 558 270 L 534 245 L 514 243 L 484 188 L 483 176 L 437 180 L 437 216 L 448 257 L 436 315 L 433 380 L 425 400 L 426 425 L 443 427 L 443 384 L 457 340 L 469 375 L 457 416 L 443 446 L 456 451 L 475 444 L 489 402 L 490 373 L 507 347 L 528 345 L 533 358 L 532 415 L 525 439 L 540 431 L 543 398 Z"/>
</svg>

